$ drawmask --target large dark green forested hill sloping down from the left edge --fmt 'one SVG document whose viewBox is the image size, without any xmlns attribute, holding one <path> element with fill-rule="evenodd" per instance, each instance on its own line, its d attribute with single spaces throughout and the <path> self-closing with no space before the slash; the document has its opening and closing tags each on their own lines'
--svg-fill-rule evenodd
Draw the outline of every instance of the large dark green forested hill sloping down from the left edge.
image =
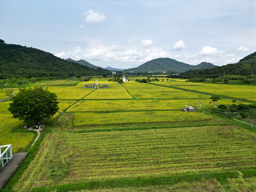
<svg viewBox="0 0 256 192">
<path fill-rule="evenodd" d="M 6 44 L 0 39 L 0 79 L 31 77 L 74 77 L 109 74 L 103 68 L 89 68 L 55 57 L 32 47 Z"/>
</svg>

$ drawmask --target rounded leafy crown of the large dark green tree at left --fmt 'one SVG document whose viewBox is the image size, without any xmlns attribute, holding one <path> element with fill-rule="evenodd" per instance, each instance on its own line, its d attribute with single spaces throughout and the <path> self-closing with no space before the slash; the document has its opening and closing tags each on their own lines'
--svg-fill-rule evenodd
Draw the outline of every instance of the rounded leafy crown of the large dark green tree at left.
<svg viewBox="0 0 256 192">
<path fill-rule="evenodd" d="M 44 118 L 50 118 L 59 109 L 57 95 L 42 87 L 20 89 L 12 101 L 8 110 L 13 118 L 25 123 L 38 123 Z"/>
</svg>

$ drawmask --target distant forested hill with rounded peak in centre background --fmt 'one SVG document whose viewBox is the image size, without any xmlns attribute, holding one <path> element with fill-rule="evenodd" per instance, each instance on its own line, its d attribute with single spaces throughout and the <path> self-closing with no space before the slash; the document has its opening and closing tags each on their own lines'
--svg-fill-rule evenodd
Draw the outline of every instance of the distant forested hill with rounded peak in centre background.
<svg viewBox="0 0 256 192">
<path fill-rule="evenodd" d="M 163 71 L 174 71 L 177 73 L 189 70 L 189 69 L 201 69 L 201 68 L 208 68 L 208 67 L 216 67 L 212 63 L 200 63 L 196 66 L 189 65 L 187 63 L 183 63 L 174 59 L 170 58 L 158 58 L 143 63 L 139 67 L 125 69 L 126 72 L 147 72 L 147 71 L 154 71 L 154 72 L 163 72 Z"/>
</svg>

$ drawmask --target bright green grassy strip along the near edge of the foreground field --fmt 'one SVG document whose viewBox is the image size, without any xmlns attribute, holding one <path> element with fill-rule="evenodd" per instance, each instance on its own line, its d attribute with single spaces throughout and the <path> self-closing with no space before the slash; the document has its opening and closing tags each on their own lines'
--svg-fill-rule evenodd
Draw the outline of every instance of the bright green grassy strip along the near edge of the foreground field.
<svg viewBox="0 0 256 192">
<path fill-rule="evenodd" d="M 253 177 L 256 175 L 256 170 L 241 170 L 245 178 Z M 176 174 L 167 177 L 153 177 L 153 178 L 137 178 L 137 179 L 118 179 L 118 180 L 105 180 L 105 181 L 87 181 L 81 183 L 70 183 L 58 186 L 44 186 L 36 187 L 31 191 L 76 191 L 76 190 L 95 190 L 95 189 L 111 189 L 122 187 L 145 187 L 157 185 L 174 185 L 179 182 L 193 182 L 202 179 L 217 179 L 221 185 L 227 185 L 228 178 L 238 178 L 237 171 L 225 171 L 217 173 L 194 173 L 194 174 Z"/>
</svg>

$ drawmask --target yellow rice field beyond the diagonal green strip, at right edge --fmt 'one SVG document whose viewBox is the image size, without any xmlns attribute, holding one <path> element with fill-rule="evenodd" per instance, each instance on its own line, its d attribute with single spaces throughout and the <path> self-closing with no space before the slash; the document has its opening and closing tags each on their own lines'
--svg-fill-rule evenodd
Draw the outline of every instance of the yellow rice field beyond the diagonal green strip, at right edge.
<svg viewBox="0 0 256 192">
<path fill-rule="evenodd" d="M 181 88 L 202 91 L 213 94 L 226 95 L 234 98 L 250 100 L 256 98 L 256 86 L 254 85 L 225 85 L 212 83 L 180 83 L 180 82 L 153 82 L 162 85 L 179 86 Z"/>
</svg>

